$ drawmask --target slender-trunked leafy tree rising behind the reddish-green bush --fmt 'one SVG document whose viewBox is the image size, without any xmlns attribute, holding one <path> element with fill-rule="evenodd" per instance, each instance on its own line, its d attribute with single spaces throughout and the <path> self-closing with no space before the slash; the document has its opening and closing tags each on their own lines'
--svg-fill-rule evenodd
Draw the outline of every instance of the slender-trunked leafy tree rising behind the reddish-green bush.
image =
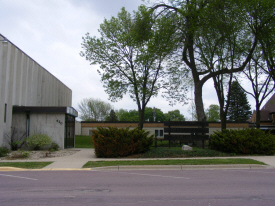
<svg viewBox="0 0 275 206">
<path fill-rule="evenodd" d="M 175 35 L 171 19 L 159 18 L 152 25 L 152 18 L 143 6 L 134 15 L 122 8 L 117 17 L 105 19 L 100 25 L 99 38 L 89 34 L 83 37 L 81 52 L 87 60 L 100 65 L 98 72 L 110 100 L 130 94 L 138 106 L 140 129 L 151 97 L 167 87 L 169 71 L 164 63 L 169 64 L 167 56 Z"/>
</svg>

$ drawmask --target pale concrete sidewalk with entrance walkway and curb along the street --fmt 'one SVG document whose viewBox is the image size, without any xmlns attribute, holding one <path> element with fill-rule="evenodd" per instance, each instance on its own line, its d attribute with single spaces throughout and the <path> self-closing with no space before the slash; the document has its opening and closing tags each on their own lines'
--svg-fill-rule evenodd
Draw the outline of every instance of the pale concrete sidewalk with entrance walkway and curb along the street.
<svg viewBox="0 0 275 206">
<path fill-rule="evenodd" d="M 151 160 L 149 158 L 141 159 L 115 159 L 115 158 L 96 158 L 94 149 L 74 149 L 77 152 L 70 156 L 63 157 L 52 157 L 52 158 L 43 158 L 39 160 L 16 160 L 16 162 L 53 162 L 52 164 L 44 167 L 42 170 L 76 170 L 81 169 L 85 163 L 88 161 L 116 161 L 116 160 Z M 120 166 L 118 167 L 108 167 L 104 169 L 256 169 L 256 168 L 275 168 L 275 156 L 238 156 L 238 157 L 201 157 L 201 158 L 173 158 L 173 159 L 229 159 L 229 158 L 246 158 L 246 159 L 254 159 L 260 162 L 264 162 L 267 164 L 263 165 L 183 165 L 183 166 Z M 169 158 L 161 158 L 161 159 L 169 159 Z M 155 160 L 155 159 L 152 159 Z M 10 162 L 10 161 L 2 161 L 2 162 Z M 14 162 L 14 161 L 13 161 Z M 103 168 L 102 168 L 103 169 Z"/>
</svg>

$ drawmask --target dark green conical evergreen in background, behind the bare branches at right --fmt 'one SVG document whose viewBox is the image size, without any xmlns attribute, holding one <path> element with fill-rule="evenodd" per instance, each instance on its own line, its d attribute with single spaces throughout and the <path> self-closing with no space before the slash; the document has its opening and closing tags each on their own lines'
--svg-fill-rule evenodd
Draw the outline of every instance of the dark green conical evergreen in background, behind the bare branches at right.
<svg viewBox="0 0 275 206">
<path fill-rule="evenodd" d="M 231 84 L 231 96 L 228 104 L 227 120 L 245 122 L 251 117 L 251 107 L 248 103 L 246 93 L 237 81 Z"/>
</svg>

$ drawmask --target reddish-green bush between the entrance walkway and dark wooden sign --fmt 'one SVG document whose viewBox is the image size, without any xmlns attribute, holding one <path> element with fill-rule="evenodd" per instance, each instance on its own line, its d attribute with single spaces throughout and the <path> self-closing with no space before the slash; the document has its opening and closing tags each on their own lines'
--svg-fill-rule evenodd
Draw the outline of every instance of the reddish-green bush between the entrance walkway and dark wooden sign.
<svg viewBox="0 0 275 206">
<path fill-rule="evenodd" d="M 92 135 L 97 157 L 125 157 L 146 152 L 153 143 L 153 137 L 148 131 L 129 130 L 129 127 L 98 127 Z"/>
</svg>

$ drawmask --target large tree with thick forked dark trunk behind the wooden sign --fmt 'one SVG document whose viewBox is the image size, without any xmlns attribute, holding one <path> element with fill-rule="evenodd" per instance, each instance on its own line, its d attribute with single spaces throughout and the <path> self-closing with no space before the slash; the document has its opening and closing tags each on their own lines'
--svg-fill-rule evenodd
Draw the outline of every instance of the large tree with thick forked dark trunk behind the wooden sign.
<svg viewBox="0 0 275 206">
<path fill-rule="evenodd" d="M 172 18 L 176 22 L 174 42 L 177 43 L 174 46 L 180 51 L 183 64 L 193 77 L 198 120 L 205 121 L 202 99 L 204 83 L 217 75 L 242 71 L 252 58 L 258 42 L 257 34 L 249 34 L 252 29 L 258 30 L 262 25 L 247 26 L 245 20 L 250 18 L 250 14 L 245 7 L 248 4 L 242 4 L 241 1 L 169 2 L 157 4 L 149 12 L 157 13 L 158 17 Z M 242 52 L 235 55 L 236 48 Z M 224 51 L 226 56 L 220 53 Z M 215 69 L 221 57 L 228 66 Z"/>
</svg>

